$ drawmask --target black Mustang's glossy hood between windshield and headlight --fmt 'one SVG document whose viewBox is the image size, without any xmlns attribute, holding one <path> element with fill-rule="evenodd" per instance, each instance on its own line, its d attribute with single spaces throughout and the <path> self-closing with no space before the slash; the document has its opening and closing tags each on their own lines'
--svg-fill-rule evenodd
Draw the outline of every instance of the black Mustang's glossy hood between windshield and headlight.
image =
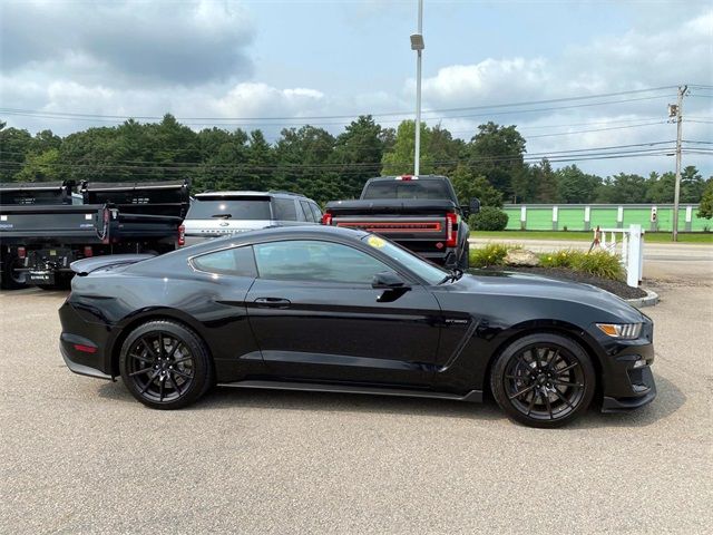
<svg viewBox="0 0 713 535">
<path fill-rule="evenodd" d="M 611 292 L 579 282 L 548 279 L 515 272 L 465 274 L 449 288 L 450 291 L 491 295 L 568 301 L 603 310 L 621 321 L 639 322 L 643 314 Z"/>
</svg>

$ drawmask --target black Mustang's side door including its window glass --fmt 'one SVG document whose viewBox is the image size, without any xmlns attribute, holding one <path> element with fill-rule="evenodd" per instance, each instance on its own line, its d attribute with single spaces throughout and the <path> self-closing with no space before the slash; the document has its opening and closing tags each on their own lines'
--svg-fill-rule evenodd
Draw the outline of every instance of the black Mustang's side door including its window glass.
<svg viewBox="0 0 713 535">
<path fill-rule="evenodd" d="M 440 309 L 419 284 L 377 290 L 393 271 L 367 252 L 320 240 L 253 245 L 258 276 L 246 296 L 267 369 L 292 380 L 427 386 Z"/>
</svg>

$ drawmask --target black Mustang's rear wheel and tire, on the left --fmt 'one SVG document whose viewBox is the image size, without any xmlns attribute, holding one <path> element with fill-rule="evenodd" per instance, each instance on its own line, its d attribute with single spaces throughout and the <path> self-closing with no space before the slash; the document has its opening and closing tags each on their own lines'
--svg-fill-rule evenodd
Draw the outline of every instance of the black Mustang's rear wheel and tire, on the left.
<svg viewBox="0 0 713 535">
<path fill-rule="evenodd" d="M 160 348 L 160 349 L 159 349 Z M 134 329 L 119 354 L 124 385 L 153 409 L 180 409 L 213 385 L 213 361 L 201 338 L 173 321 L 149 321 Z"/>
</svg>

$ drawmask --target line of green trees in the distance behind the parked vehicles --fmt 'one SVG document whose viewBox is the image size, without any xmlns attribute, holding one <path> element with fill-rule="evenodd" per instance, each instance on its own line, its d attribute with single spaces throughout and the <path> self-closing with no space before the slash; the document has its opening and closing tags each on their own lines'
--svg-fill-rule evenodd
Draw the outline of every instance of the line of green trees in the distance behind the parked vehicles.
<svg viewBox="0 0 713 535">
<path fill-rule="evenodd" d="M 166 115 L 160 123 L 127 120 L 66 137 L 35 136 L 0 123 L 0 181 L 97 182 L 187 178 L 205 189 L 289 189 L 318 202 L 355 197 L 372 176 L 413 169 L 414 121 L 383 128 L 361 116 L 338 136 L 323 128 L 285 128 L 270 144 L 257 130 L 194 132 Z M 484 205 L 516 203 L 671 203 L 674 174 L 600 177 L 572 164 L 533 160 L 516 126 L 480 125 L 469 142 L 441 126 L 421 125 L 421 173 L 452 178 L 459 197 Z M 694 166 L 682 174 L 681 202 L 697 203 L 713 177 Z M 709 194 L 710 197 L 711 194 Z"/>
</svg>

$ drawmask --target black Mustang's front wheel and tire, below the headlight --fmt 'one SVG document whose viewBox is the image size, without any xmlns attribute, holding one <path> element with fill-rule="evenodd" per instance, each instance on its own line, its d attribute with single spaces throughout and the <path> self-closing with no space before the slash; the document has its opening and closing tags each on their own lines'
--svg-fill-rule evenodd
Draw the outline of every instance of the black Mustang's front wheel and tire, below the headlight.
<svg viewBox="0 0 713 535">
<path fill-rule="evenodd" d="M 596 372 L 587 352 L 570 338 L 529 334 L 497 357 L 492 396 L 505 414 L 529 427 L 555 428 L 587 410 Z"/>
</svg>

